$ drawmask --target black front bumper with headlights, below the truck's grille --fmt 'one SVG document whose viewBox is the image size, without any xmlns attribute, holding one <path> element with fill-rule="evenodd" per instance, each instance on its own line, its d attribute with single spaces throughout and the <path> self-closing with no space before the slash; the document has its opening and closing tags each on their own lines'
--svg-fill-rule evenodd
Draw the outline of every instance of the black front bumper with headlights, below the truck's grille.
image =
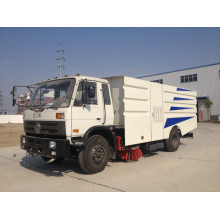
<svg viewBox="0 0 220 220">
<path fill-rule="evenodd" d="M 25 143 L 23 143 L 25 138 Z M 56 142 L 55 149 L 49 148 L 49 142 Z M 41 138 L 21 135 L 21 149 L 30 154 L 38 154 L 46 157 L 67 157 L 70 156 L 70 144 L 65 139 Z"/>
</svg>

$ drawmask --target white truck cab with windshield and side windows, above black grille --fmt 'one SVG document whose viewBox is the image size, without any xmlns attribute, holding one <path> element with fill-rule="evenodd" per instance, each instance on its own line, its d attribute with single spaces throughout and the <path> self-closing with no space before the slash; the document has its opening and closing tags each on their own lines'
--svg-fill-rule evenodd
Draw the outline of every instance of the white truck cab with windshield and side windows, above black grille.
<svg viewBox="0 0 220 220">
<path fill-rule="evenodd" d="M 24 124 L 36 120 L 65 124 L 63 134 L 70 143 L 72 137 L 82 137 L 93 126 L 113 125 L 108 81 L 75 76 L 38 84 L 25 111 Z M 49 129 L 41 132 L 50 134 L 54 131 Z M 59 132 L 57 135 L 60 135 Z"/>
</svg>

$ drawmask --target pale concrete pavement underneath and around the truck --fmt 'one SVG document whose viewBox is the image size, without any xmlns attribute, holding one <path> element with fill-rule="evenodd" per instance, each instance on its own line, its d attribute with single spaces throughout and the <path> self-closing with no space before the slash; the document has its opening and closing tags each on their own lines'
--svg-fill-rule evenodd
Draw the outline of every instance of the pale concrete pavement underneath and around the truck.
<svg viewBox="0 0 220 220">
<path fill-rule="evenodd" d="M 200 123 L 177 152 L 109 162 L 94 175 L 74 159 L 50 165 L 18 146 L 0 148 L 0 191 L 220 191 L 220 124 Z"/>
</svg>

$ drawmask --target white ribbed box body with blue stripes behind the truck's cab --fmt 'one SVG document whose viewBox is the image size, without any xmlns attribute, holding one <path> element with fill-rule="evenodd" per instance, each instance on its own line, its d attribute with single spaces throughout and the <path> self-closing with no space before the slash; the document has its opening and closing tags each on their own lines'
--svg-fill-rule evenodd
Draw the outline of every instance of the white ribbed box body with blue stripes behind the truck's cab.
<svg viewBox="0 0 220 220">
<path fill-rule="evenodd" d="M 125 145 L 182 135 L 197 127 L 196 92 L 130 77 L 110 77 L 114 124 L 125 129 Z"/>
</svg>

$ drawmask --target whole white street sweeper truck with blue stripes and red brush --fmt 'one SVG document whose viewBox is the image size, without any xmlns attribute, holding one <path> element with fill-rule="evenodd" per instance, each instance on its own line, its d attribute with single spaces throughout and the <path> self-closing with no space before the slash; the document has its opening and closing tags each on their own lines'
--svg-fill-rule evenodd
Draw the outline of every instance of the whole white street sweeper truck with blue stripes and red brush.
<svg viewBox="0 0 220 220">
<path fill-rule="evenodd" d="M 21 148 L 47 162 L 77 157 L 89 174 L 104 170 L 109 159 L 138 160 L 143 149 L 157 144 L 176 151 L 180 138 L 192 137 L 197 127 L 196 92 L 189 89 L 126 76 L 80 75 L 34 87 Z M 16 86 L 14 105 L 15 93 Z"/>
</svg>

